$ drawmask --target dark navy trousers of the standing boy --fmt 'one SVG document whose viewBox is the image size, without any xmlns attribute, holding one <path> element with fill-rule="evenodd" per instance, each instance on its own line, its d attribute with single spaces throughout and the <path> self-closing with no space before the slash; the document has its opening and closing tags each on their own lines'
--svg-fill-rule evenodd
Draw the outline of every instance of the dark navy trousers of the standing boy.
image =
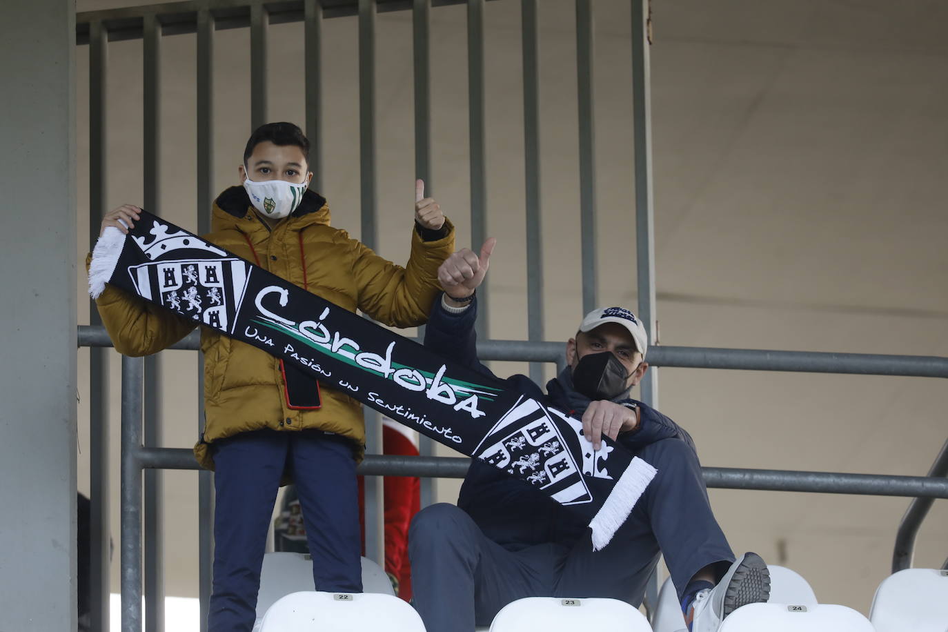
<svg viewBox="0 0 948 632">
<path fill-rule="evenodd" d="M 319 430 L 245 432 L 213 443 L 209 632 L 250 632 L 266 533 L 284 472 L 297 485 L 317 590 L 361 592 L 352 442 Z"/>
</svg>

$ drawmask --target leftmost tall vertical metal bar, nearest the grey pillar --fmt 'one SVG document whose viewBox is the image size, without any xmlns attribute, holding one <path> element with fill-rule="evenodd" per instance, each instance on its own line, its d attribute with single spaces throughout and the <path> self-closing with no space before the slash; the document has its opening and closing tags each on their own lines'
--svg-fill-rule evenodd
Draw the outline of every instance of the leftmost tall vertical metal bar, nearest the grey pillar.
<svg viewBox="0 0 948 632">
<path fill-rule="evenodd" d="M 105 77 L 108 33 L 101 22 L 89 25 L 89 237 L 99 236 L 105 213 Z M 101 325 L 95 301 L 89 324 Z M 93 630 L 109 629 L 109 431 L 107 349 L 89 349 L 89 461 L 91 524 L 89 564 L 89 623 Z"/>
</svg>

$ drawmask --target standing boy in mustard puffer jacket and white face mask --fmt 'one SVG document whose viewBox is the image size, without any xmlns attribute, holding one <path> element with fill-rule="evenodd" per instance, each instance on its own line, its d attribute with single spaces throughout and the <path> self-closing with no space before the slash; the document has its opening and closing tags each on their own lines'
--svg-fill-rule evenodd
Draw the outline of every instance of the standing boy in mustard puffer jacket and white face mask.
<svg viewBox="0 0 948 632">
<path fill-rule="evenodd" d="M 454 229 L 424 183 L 415 183 L 409 262 L 401 267 L 329 225 L 326 201 L 308 186 L 309 141 L 292 123 L 268 123 L 249 138 L 243 186 L 214 203 L 210 243 L 340 307 L 395 327 L 423 324 L 440 291 L 438 266 Z M 102 230 L 127 232 L 138 208 L 105 215 Z M 194 323 L 107 285 L 96 301 L 118 352 L 145 355 L 189 334 Z M 194 447 L 214 469 L 211 632 L 250 632 L 264 544 L 284 475 L 300 494 L 318 590 L 360 592 L 356 462 L 365 446 L 361 406 L 268 353 L 201 330 L 205 430 Z"/>
</svg>

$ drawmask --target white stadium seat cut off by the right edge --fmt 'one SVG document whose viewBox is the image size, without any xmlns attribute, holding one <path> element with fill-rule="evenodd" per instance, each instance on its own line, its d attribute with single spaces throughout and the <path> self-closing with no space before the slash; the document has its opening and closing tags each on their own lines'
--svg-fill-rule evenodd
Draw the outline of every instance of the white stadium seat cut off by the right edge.
<svg viewBox="0 0 948 632">
<path fill-rule="evenodd" d="M 948 571 L 905 569 L 876 589 L 869 619 L 877 632 L 948 630 Z"/>
</svg>

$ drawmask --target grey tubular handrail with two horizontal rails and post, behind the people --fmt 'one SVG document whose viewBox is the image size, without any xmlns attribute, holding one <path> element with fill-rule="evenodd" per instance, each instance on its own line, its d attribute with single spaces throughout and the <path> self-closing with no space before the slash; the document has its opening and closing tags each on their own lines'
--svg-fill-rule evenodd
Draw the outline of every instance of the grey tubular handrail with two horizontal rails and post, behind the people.
<svg viewBox="0 0 948 632">
<path fill-rule="evenodd" d="M 109 347 L 101 326 L 81 326 L 80 346 Z M 193 333 L 173 349 L 196 350 Z M 555 342 L 485 340 L 478 343 L 483 360 L 556 362 L 561 365 L 563 346 Z M 948 377 L 948 358 L 860 353 L 778 352 L 741 349 L 651 347 L 650 364 L 660 367 L 704 369 L 816 371 L 849 374 Z M 146 447 L 142 442 L 144 418 L 143 358 L 122 358 L 121 452 L 121 594 L 123 630 L 141 629 L 142 597 L 142 471 L 149 469 L 197 470 L 191 449 Z M 815 369 L 814 369 L 815 368 Z M 895 369 L 894 369 L 895 368 Z M 894 372 L 898 371 L 898 372 Z M 462 479 L 470 459 L 451 457 L 400 457 L 366 455 L 357 472 L 365 476 L 407 476 Z M 865 496 L 914 497 L 902 519 L 896 540 L 893 572 L 911 566 L 915 534 L 935 498 L 948 498 L 948 441 L 926 477 L 840 472 L 802 472 L 727 467 L 702 467 L 710 488 L 811 492 Z M 898 567 L 896 565 L 899 565 Z"/>
</svg>

